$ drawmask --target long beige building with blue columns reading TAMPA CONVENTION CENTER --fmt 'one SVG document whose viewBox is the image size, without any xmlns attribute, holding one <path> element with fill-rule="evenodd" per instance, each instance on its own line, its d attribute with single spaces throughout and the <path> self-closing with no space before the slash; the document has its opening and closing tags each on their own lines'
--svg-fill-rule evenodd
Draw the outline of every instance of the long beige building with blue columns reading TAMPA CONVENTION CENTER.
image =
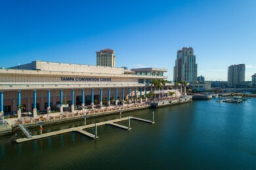
<svg viewBox="0 0 256 170">
<path fill-rule="evenodd" d="M 147 94 L 150 80 L 166 79 L 167 69 L 132 69 L 32 61 L 0 69 L 0 112 L 72 112 L 83 106 L 123 104 Z M 170 85 L 171 86 L 171 85 Z M 149 91 L 148 91 L 149 92 Z M 140 100 L 141 102 L 141 100 Z"/>
</svg>

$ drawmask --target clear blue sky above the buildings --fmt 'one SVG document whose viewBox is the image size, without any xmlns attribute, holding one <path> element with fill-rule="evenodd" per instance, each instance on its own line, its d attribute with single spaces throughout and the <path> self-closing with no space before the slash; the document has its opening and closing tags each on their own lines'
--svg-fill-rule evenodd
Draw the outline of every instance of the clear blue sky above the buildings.
<svg viewBox="0 0 256 170">
<path fill-rule="evenodd" d="M 116 66 L 168 69 L 177 50 L 194 48 L 198 75 L 226 80 L 245 63 L 256 73 L 256 1 L 0 1 L 0 67 L 34 60 L 96 65 L 98 50 Z"/>
</svg>

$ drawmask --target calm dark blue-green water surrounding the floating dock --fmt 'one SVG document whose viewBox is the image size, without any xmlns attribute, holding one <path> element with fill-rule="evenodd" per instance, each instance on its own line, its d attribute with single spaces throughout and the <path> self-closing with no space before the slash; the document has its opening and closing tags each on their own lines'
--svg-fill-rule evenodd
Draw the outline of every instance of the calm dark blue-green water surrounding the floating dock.
<svg viewBox="0 0 256 170">
<path fill-rule="evenodd" d="M 131 131 L 100 126 L 96 140 L 67 133 L 16 144 L 14 135 L 0 137 L 0 169 L 256 169 L 255 106 L 256 99 L 238 105 L 213 99 L 123 113 L 152 120 L 154 110 L 156 124 L 132 120 Z M 114 118 L 119 115 L 87 124 Z M 83 124 L 49 126 L 43 133 Z"/>
</svg>

